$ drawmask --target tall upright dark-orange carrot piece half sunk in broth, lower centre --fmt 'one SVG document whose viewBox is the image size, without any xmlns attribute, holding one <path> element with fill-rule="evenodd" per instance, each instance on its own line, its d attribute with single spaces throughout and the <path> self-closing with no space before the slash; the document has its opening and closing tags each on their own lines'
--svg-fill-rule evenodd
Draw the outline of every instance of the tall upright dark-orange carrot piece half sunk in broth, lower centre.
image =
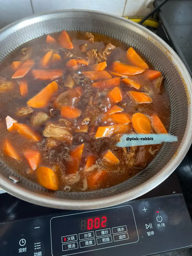
<svg viewBox="0 0 192 256">
<path fill-rule="evenodd" d="M 76 146 L 71 150 L 71 160 L 67 165 L 67 174 L 75 174 L 79 170 L 82 153 L 84 149 L 84 143 Z"/>
</svg>

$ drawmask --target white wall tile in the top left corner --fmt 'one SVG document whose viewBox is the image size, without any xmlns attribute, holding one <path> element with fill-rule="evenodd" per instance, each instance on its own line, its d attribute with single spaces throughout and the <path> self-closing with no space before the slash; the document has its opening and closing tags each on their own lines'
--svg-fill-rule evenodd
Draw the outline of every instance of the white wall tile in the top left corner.
<svg viewBox="0 0 192 256">
<path fill-rule="evenodd" d="M 30 0 L 0 0 L 0 28 L 32 14 Z"/>
</svg>

